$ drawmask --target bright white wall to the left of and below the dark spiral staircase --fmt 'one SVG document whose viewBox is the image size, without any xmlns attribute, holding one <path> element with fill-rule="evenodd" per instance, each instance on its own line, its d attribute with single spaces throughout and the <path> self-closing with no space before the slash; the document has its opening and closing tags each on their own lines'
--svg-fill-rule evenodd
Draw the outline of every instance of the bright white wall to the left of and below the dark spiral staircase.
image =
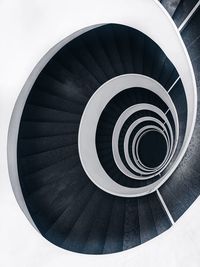
<svg viewBox="0 0 200 267">
<path fill-rule="evenodd" d="M 100 15 L 113 5 L 111 0 L 96 1 L 102 3 L 98 10 Z M 127 5 L 131 2 L 115 1 Z M 0 1 L 0 266 L 199 267 L 200 199 L 163 235 L 124 253 L 98 257 L 55 247 L 33 229 L 21 212 L 7 170 L 9 120 L 17 96 L 33 67 L 49 48 L 66 37 L 70 23 L 66 11 L 69 12 L 68 0 Z M 82 12 L 78 4 L 76 11 L 77 16 Z M 73 25 L 70 27 L 73 32 Z"/>
</svg>

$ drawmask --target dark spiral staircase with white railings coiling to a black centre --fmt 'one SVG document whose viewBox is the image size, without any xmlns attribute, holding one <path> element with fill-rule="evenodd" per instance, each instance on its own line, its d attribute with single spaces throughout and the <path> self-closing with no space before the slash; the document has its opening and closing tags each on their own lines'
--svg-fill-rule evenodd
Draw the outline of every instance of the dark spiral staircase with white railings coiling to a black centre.
<svg viewBox="0 0 200 267">
<path fill-rule="evenodd" d="M 198 89 L 200 1 L 161 4 Z M 193 131 L 195 88 L 184 82 L 155 41 L 118 23 L 85 30 L 50 58 L 29 84 L 16 159 L 30 220 L 47 240 L 84 254 L 120 252 L 191 206 L 200 194 L 199 113 Z"/>
</svg>

